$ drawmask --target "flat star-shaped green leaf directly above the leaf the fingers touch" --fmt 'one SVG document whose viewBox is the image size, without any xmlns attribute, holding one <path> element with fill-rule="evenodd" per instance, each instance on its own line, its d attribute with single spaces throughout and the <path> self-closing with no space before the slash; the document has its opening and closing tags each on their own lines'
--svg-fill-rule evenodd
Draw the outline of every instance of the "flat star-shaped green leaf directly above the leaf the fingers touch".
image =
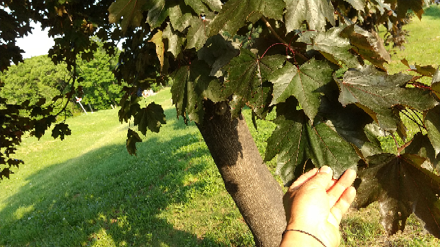
<svg viewBox="0 0 440 247">
<path fill-rule="evenodd" d="M 296 67 L 290 62 L 278 69 L 268 80 L 274 84 L 274 97 L 271 105 L 284 102 L 294 95 L 300 102 L 309 119 L 314 119 L 320 106 L 320 89 L 331 81 L 333 70 L 327 62 L 314 58 Z"/>
</svg>

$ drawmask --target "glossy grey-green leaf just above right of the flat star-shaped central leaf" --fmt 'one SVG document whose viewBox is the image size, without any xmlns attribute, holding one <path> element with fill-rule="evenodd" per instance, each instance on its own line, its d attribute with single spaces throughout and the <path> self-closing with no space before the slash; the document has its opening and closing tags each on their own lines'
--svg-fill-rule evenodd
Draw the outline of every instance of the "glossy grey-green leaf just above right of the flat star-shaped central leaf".
<svg viewBox="0 0 440 247">
<path fill-rule="evenodd" d="M 329 61 L 338 64 L 344 62 L 350 68 L 360 67 L 358 58 L 351 54 L 352 48 L 348 38 L 342 38 L 344 27 L 332 27 L 327 31 L 306 31 L 300 35 L 298 41 L 307 44 L 307 51 L 319 51 Z"/>
</svg>

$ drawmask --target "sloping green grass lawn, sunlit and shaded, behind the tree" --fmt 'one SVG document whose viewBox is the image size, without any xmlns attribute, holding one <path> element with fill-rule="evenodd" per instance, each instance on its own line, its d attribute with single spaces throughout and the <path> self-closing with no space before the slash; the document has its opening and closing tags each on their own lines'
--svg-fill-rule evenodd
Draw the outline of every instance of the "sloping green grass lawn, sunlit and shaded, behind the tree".
<svg viewBox="0 0 440 247">
<path fill-rule="evenodd" d="M 406 69 L 401 58 L 440 64 L 440 8 L 426 13 L 406 26 L 411 36 L 393 55 L 392 73 Z M 0 183 L 0 246 L 253 246 L 195 125 L 176 119 L 170 89 L 152 100 L 164 106 L 167 124 L 148 132 L 137 156 L 125 148 L 133 123 L 120 124 L 118 110 L 67 119 L 72 136 L 64 141 L 50 133 L 24 139 L 17 158 L 25 164 Z M 256 132 L 244 113 L 263 154 L 274 125 L 259 121 Z M 341 246 L 440 246 L 415 217 L 389 237 L 378 208 L 344 217 Z"/>
</svg>

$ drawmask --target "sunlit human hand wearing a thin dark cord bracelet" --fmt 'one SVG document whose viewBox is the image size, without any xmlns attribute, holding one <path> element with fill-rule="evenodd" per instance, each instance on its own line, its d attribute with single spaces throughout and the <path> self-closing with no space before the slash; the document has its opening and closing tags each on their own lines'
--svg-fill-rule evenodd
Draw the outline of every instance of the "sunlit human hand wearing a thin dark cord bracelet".
<svg viewBox="0 0 440 247">
<path fill-rule="evenodd" d="M 285 193 L 283 204 L 286 229 L 296 229 L 314 235 L 327 247 L 339 246 L 339 224 L 353 202 L 356 190 L 351 186 L 356 172 L 348 169 L 338 179 L 324 166 L 300 176 Z M 320 246 L 313 237 L 298 231 L 287 231 L 281 246 Z"/>
</svg>

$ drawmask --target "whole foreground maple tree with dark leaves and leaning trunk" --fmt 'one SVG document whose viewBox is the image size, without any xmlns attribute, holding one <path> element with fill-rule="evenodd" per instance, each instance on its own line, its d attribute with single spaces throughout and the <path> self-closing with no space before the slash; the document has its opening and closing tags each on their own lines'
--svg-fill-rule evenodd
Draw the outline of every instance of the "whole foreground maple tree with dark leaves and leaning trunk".
<svg viewBox="0 0 440 247">
<path fill-rule="evenodd" d="M 77 54 L 91 59 L 98 49 L 91 36 L 103 40 L 110 55 L 124 37 L 124 51 L 114 71 L 119 82 L 129 85 L 120 101 L 120 121 L 134 118 L 142 134 L 148 129 L 158 132 L 165 124 L 162 108 L 154 103 L 141 107 L 137 91 L 173 80 L 177 116 L 197 124 L 257 246 L 277 246 L 281 239 L 283 193 L 241 116 L 244 106 L 252 109 L 254 119 L 264 119 L 276 110 L 277 128 L 267 140 L 264 161 L 277 156 L 277 172 L 286 185 L 311 167 L 330 165 L 335 177 L 345 169 L 358 168 L 362 182 L 357 207 L 378 200 L 382 224 L 391 234 L 403 229 L 408 215 L 415 213 L 430 233 L 440 237 L 440 179 L 436 175 L 440 72 L 408 64 L 410 70 L 432 77 L 430 85 L 412 75 L 387 75 L 375 36 L 362 28 L 372 14 L 380 20 L 376 23 L 397 28 L 408 10 L 420 18 L 426 3 L 3 1 L 10 13 L 3 9 L 0 13 L 12 24 L 0 27 L 2 35 L 15 35 L 2 37 L 11 49 L 1 64 L 5 69 L 11 60 L 19 60 L 17 52 L 10 51 L 17 51 L 14 39 L 28 32 L 31 19 L 50 27 L 50 35 L 62 35 L 50 56 L 54 62 L 66 62 L 73 75 L 71 85 L 78 78 Z M 258 35 L 253 39 L 254 31 Z M 242 38 L 229 38 L 237 36 Z M 351 69 L 338 78 L 335 71 L 342 65 Z M 72 86 L 67 98 L 74 91 Z M 31 106 L 6 106 L 17 107 Z M 19 115 L 13 116 L 3 120 L 2 128 L 22 122 Z M 39 124 L 30 119 L 19 130 L 35 129 L 38 136 L 52 123 L 50 116 L 43 115 Z M 397 134 L 405 139 L 405 117 L 419 126 L 419 133 L 398 145 L 396 154 L 384 152 L 378 138 Z M 69 132 L 57 126 L 56 133 L 62 137 Z M 139 141 L 139 134 L 129 129 L 126 146 L 131 154 Z M 2 148 L 13 151 L 18 143 L 2 144 Z M 3 159 L 9 167 L 3 168 L 2 176 L 9 176 L 10 162 L 14 165 L 10 160 Z"/>
</svg>

